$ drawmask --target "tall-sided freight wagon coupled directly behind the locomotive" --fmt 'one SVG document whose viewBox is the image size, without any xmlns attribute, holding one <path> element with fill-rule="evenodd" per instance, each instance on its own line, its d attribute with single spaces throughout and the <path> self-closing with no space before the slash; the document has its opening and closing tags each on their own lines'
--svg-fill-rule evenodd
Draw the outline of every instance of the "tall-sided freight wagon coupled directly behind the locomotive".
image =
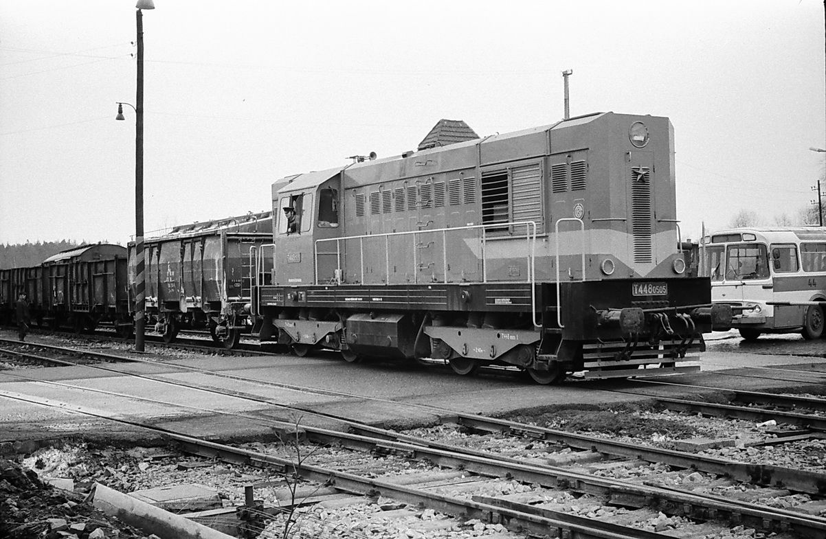
<svg viewBox="0 0 826 539">
<path fill-rule="evenodd" d="M 175 227 L 145 239 L 145 314 L 166 342 L 180 329 L 209 329 L 226 348 L 249 332 L 250 252 L 272 242 L 269 212 Z M 131 303 L 135 243 L 129 244 Z M 132 307 L 134 311 L 134 305 Z"/>
</svg>

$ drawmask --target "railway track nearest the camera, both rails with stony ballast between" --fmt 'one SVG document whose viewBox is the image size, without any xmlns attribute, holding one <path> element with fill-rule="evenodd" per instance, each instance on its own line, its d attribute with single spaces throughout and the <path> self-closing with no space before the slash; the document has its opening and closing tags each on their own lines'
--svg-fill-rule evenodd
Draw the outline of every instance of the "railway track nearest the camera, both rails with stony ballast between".
<svg viewBox="0 0 826 539">
<path fill-rule="evenodd" d="M 10 398 L 40 402 L 21 395 L 6 395 Z M 157 402 L 157 401 L 156 401 Z M 49 403 L 60 409 L 74 413 L 92 415 L 102 418 L 101 414 L 65 403 Z M 757 527 L 767 532 L 792 532 L 790 537 L 826 537 L 826 520 L 819 517 L 793 513 L 781 509 L 765 508 L 736 500 L 714 499 L 703 494 L 695 494 L 677 489 L 663 489 L 652 485 L 640 485 L 627 481 L 606 479 L 594 475 L 565 470 L 558 466 L 541 464 L 524 464 L 521 459 L 474 452 L 463 447 L 449 447 L 444 444 L 425 442 L 415 437 L 399 437 L 406 441 L 382 440 L 379 437 L 363 436 L 354 433 L 342 433 L 320 428 L 301 427 L 307 442 L 316 447 L 347 447 L 358 452 L 360 457 L 339 461 L 335 469 L 318 466 L 311 461 L 330 462 L 329 454 L 313 452 L 305 448 L 305 454 L 312 459 L 296 462 L 288 459 L 253 452 L 244 448 L 230 447 L 225 444 L 206 442 L 182 433 L 159 431 L 134 422 L 122 422 L 141 428 L 148 428 L 162 433 L 180 444 L 185 452 L 218 458 L 249 466 L 271 468 L 279 475 L 301 475 L 306 480 L 314 481 L 319 487 L 334 487 L 337 492 L 367 495 L 370 499 L 381 496 L 391 498 L 414 508 L 420 504 L 461 518 L 478 518 L 482 522 L 502 524 L 513 530 L 529 531 L 539 534 L 559 534 L 559 537 L 665 537 L 659 533 L 646 532 L 639 527 L 601 521 L 577 513 L 567 513 L 561 508 L 550 508 L 554 504 L 535 505 L 538 500 L 577 499 L 581 507 L 635 508 L 631 511 L 615 513 L 618 520 L 629 518 L 633 522 L 645 522 L 644 516 L 658 515 L 667 511 L 669 518 L 679 516 L 686 518 L 684 528 L 705 526 L 692 523 L 692 519 L 717 522 L 729 525 L 744 524 Z M 288 429 L 290 423 L 271 421 L 273 426 Z M 373 435 L 381 429 L 368 428 Z M 437 446 L 441 447 L 438 448 Z M 421 480 L 410 475 L 394 479 L 376 477 L 376 470 L 384 467 L 393 468 L 387 458 L 393 457 L 404 461 L 428 462 L 429 469 L 423 470 Z M 339 457 L 340 458 L 340 457 Z M 377 462 L 376 459 L 381 460 Z M 535 460 L 535 459 L 534 459 Z M 619 463 L 614 461 L 613 466 Z M 341 470 L 347 468 L 349 470 Z M 358 474 L 352 470 L 362 470 Z M 460 470 L 461 476 L 444 473 L 442 469 Z M 434 474 L 436 476 L 434 477 Z M 455 481 L 457 477 L 462 480 Z M 470 479 L 468 479 L 470 478 Z M 518 496 L 489 495 L 472 493 L 491 493 L 501 490 L 502 482 L 511 485 L 517 482 L 531 485 L 523 489 Z M 451 493 L 444 494 L 445 492 Z M 465 494 L 461 494 L 465 493 Z M 469 494 L 468 494 L 469 493 Z M 530 503 L 533 501 L 534 503 Z M 562 505 L 565 504 L 555 504 Z M 629 517 L 629 513 L 635 515 Z M 590 511 L 589 511 L 590 512 Z M 653 513 L 652 513 L 653 512 Z M 596 512 L 595 512 L 596 513 Z M 605 511 L 603 511 L 603 516 Z M 673 537 L 673 536 L 672 536 Z M 687 535 L 685 537 L 691 537 Z"/>
</svg>

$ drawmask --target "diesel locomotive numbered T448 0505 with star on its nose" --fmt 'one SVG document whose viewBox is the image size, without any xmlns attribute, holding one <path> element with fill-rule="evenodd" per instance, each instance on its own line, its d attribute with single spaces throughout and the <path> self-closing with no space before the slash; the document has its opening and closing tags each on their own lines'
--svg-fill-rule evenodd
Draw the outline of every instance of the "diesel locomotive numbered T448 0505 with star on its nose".
<svg viewBox="0 0 826 539">
<path fill-rule="evenodd" d="M 673 144 L 657 116 L 484 138 L 443 120 L 417 152 L 283 178 L 273 245 L 254 253 L 254 332 L 298 355 L 540 384 L 698 370 L 731 312 L 686 276 Z"/>
</svg>

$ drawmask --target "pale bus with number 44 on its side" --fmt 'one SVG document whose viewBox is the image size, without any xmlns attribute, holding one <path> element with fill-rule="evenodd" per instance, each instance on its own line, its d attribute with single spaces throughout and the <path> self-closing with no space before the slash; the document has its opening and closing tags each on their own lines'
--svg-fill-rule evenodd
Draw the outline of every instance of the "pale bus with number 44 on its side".
<svg viewBox="0 0 826 539">
<path fill-rule="evenodd" d="M 826 337 L 826 227 L 720 230 L 701 240 L 700 267 L 711 300 L 731 305 L 744 339 Z"/>
</svg>

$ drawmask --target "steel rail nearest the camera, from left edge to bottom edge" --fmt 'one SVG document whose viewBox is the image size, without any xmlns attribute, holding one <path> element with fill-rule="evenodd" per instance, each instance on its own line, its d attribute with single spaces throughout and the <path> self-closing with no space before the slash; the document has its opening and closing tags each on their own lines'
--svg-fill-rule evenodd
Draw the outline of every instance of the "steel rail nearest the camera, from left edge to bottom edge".
<svg viewBox="0 0 826 539">
<path fill-rule="evenodd" d="M 500 522 L 504 526 L 517 531 L 551 534 L 556 537 L 571 537 L 571 539 L 655 539 L 669 537 L 655 532 L 643 532 L 634 527 L 624 527 L 618 524 L 600 522 L 590 518 L 574 517 L 572 515 L 566 515 L 565 520 L 558 520 L 532 513 L 522 513 L 510 508 L 483 504 L 473 500 L 453 498 L 444 494 L 415 489 L 407 485 L 397 485 L 392 481 L 368 478 L 349 472 L 309 465 L 304 461 L 288 461 L 287 459 L 276 456 L 230 447 L 217 442 L 207 442 L 197 437 L 175 433 L 164 428 L 150 427 L 143 423 L 124 419 L 109 418 L 102 414 L 85 410 L 79 406 L 71 406 L 65 403 L 58 404 L 54 401 L 35 399 L 26 395 L 12 394 L 6 391 L 0 391 L 0 394 L 10 399 L 41 404 L 74 414 L 88 415 L 146 429 L 178 442 L 184 451 L 196 455 L 217 457 L 223 461 L 248 466 L 273 468 L 277 470 L 279 474 L 300 475 L 320 484 L 349 492 L 350 494 L 363 494 L 371 498 L 383 496 L 398 499 L 406 504 L 423 504 L 425 507 L 449 513 L 459 518 L 480 518 L 487 522 Z"/>
</svg>

